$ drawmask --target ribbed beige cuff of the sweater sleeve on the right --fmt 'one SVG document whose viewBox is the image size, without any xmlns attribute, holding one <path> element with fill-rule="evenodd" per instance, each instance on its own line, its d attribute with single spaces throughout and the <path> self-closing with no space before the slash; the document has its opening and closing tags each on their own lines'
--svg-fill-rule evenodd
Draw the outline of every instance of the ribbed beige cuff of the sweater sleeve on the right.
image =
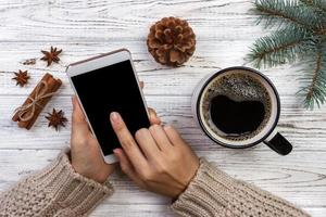
<svg viewBox="0 0 326 217">
<path fill-rule="evenodd" d="M 180 216 L 228 216 L 223 194 L 234 181 L 227 174 L 200 158 L 200 166 L 187 189 L 172 204 L 172 209 Z M 217 192 L 224 192 L 222 194 Z"/>
</svg>

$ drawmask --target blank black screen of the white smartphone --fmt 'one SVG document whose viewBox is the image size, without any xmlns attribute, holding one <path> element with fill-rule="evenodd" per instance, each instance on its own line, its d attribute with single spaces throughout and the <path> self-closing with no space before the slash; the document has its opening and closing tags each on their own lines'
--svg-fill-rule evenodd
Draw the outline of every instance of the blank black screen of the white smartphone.
<svg viewBox="0 0 326 217">
<path fill-rule="evenodd" d="M 72 81 L 104 155 L 121 146 L 110 124 L 111 112 L 122 115 L 133 136 L 150 126 L 129 60 L 73 76 Z"/>
</svg>

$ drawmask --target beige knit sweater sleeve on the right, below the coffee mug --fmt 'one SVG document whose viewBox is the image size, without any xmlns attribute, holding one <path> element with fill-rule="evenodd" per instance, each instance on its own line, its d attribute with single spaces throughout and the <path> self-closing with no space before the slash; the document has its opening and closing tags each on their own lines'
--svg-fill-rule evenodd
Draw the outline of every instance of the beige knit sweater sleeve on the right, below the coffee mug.
<svg viewBox="0 0 326 217">
<path fill-rule="evenodd" d="M 187 189 L 172 204 L 180 216 L 309 216 L 283 199 L 231 178 L 201 158 Z"/>
</svg>

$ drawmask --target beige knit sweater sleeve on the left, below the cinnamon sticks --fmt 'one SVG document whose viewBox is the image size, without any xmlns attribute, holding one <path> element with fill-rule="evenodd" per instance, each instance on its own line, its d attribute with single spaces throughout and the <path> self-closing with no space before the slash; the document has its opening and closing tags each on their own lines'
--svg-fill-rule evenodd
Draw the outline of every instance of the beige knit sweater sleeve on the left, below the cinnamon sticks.
<svg viewBox="0 0 326 217">
<path fill-rule="evenodd" d="M 77 174 L 62 152 L 41 171 L 20 181 L 0 195 L 0 216 L 86 216 L 113 193 L 103 184 Z"/>
</svg>

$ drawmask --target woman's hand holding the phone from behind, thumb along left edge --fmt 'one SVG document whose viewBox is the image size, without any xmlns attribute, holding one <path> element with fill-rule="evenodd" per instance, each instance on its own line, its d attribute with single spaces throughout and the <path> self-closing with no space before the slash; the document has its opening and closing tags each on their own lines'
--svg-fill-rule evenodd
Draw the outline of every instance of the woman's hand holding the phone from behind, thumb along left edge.
<svg viewBox="0 0 326 217">
<path fill-rule="evenodd" d="M 155 112 L 152 108 L 149 108 L 149 112 L 151 124 L 160 124 Z M 76 97 L 73 98 L 71 149 L 72 165 L 82 176 L 103 183 L 113 173 L 115 165 L 104 162 L 101 148 L 88 128 Z"/>
</svg>

